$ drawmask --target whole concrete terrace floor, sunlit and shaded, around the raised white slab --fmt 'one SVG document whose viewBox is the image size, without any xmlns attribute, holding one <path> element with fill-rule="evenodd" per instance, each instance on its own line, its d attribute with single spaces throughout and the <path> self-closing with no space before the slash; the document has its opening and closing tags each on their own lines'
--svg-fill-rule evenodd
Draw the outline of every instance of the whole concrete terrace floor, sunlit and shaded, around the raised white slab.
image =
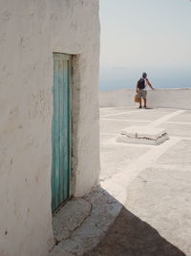
<svg viewBox="0 0 191 256">
<path fill-rule="evenodd" d="M 117 143 L 130 126 L 170 139 Z M 84 198 L 91 212 L 53 255 L 191 256 L 191 111 L 100 108 L 100 155 L 100 187 Z"/>
</svg>

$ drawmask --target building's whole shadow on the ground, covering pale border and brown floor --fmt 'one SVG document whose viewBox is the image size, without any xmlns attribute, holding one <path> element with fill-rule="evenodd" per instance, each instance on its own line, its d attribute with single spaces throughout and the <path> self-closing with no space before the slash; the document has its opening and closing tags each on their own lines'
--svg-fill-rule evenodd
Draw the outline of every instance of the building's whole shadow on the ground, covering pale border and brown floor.
<svg viewBox="0 0 191 256">
<path fill-rule="evenodd" d="M 74 203 L 68 205 L 69 212 L 73 212 L 70 207 L 75 207 L 76 199 L 73 200 Z M 62 230 L 63 240 L 54 246 L 49 256 L 185 256 L 178 247 L 128 211 L 105 189 L 98 186 L 83 200 L 92 205 L 91 212 L 76 228 L 70 224 L 75 217 L 65 217 L 66 205 L 63 207 L 60 222 L 63 226 L 68 224 L 69 228 Z M 79 212 L 77 208 L 77 218 Z M 65 239 L 68 233 L 70 236 Z"/>
</svg>

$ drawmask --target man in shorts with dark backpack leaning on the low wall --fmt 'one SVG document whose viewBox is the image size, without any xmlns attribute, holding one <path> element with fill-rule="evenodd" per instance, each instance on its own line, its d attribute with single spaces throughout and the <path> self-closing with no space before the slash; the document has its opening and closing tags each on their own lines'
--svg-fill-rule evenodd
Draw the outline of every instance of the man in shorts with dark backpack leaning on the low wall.
<svg viewBox="0 0 191 256">
<path fill-rule="evenodd" d="M 146 108 L 146 95 L 147 95 L 146 85 L 147 84 L 151 87 L 152 90 L 154 90 L 151 82 L 147 79 L 147 74 L 144 72 L 142 73 L 142 77 L 138 80 L 138 84 L 137 84 L 139 108 L 142 108 L 141 98 L 143 99 L 143 102 L 144 102 L 143 107 Z"/>
</svg>

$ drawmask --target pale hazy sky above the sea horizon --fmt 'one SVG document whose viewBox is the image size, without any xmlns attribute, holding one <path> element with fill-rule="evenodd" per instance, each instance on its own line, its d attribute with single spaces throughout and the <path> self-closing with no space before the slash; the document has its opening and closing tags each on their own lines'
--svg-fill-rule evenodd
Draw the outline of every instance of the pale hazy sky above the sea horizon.
<svg viewBox="0 0 191 256">
<path fill-rule="evenodd" d="M 101 67 L 191 67 L 189 0 L 100 0 Z"/>
</svg>

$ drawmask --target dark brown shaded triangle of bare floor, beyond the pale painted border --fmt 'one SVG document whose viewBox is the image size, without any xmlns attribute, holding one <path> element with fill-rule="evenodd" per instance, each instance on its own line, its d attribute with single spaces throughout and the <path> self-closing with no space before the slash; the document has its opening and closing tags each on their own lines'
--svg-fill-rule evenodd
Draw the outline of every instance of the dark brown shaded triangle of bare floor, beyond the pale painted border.
<svg viewBox="0 0 191 256">
<path fill-rule="evenodd" d="M 160 237 L 159 232 L 134 214 L 121 209 L 101 242 L 84 256 L 183 256 L 178 247 Z"/>
</svg>

